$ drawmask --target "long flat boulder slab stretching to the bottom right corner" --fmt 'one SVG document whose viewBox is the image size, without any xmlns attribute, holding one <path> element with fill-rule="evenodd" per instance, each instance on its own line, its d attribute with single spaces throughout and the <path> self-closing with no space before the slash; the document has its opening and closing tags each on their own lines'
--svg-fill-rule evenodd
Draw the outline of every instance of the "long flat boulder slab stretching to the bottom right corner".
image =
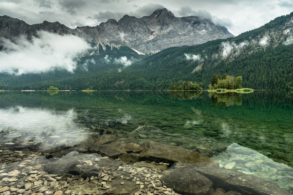
<svg viewBox="0 0 293 195">
<path fill-rule="evenodd" d="M 246 175 L 239 171 L 181 162 L 175 163 L 172 168 L 193 169 L 211 180 L 214 183 L 214 188 L 223 188 L 226 191 L 238 191 L 246 195 L 290 194 L 281 189 L 277 182 L 265 180 L 253 175 Z"/>
</svg>

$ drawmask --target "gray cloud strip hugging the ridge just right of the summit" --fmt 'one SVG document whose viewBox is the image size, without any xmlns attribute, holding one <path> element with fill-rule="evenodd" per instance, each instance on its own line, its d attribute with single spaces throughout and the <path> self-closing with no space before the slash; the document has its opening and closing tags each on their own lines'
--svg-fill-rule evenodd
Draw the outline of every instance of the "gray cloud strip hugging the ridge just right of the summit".
<svg viewBox="0 0 293 195">
<path fill-rule="evenodd" d="M 233 22 L 229 18 L 219 18 L 217 16 L 212 16 L 207 10 L 193 10 L 190 6 L 180 7 L 180 10 L 177 11 L 180 16 L 198 16 L 201 19 L 210 19 L 216 25 L 222 25 L 225 27 L 233 26 Z"/>
</svg>

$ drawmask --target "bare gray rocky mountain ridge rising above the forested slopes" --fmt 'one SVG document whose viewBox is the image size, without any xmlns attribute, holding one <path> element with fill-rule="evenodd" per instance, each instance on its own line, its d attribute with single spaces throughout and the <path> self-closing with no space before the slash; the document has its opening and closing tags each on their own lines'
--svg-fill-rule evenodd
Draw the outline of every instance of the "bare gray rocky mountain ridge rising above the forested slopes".
<svg viewBox="0 0 293 195">
<path fill-rule="evenodd" d="M 142 18 L 125 15 L 118 22 L 109 19 L 95 27 L 84 26 L 75 29 L 59 22 L 44 21 L 41 24 L 28 25 L 16 18 L 0 16 L 1 37 L 31 37 L 37 35 L 38 30 L 60 35 L 78 35 L 102 47 L 125 45 L 142 53 L 156 53 L 169 47 L 197 45 L 210 40 L 233 37 L 225 27 L 215 25 L 209 19 L 200 19 L 197 16 L 175 17 L 166 8 L 158 9 L 150 16 Z"/>
</svg>

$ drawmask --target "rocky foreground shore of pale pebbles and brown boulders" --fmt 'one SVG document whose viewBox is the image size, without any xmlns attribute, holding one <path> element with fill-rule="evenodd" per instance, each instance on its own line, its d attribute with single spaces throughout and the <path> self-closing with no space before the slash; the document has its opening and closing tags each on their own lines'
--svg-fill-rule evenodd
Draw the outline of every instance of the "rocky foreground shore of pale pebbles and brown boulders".
<svg viewBox="0 0 293 195">
<path fill-rule="evenodd" d="M 111 134 L 79 146 L 0 154 L 1 195 L 290 194 L 275 181 L 220 168 L 193 150 Z"/>
</svg>

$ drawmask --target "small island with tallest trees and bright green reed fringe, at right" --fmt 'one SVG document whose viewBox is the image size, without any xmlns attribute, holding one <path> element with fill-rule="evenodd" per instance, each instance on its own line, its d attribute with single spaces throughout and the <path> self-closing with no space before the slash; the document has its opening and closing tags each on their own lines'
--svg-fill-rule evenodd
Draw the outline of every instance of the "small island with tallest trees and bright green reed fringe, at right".
<svg viewBox="0 0 293 195">
<path fill-rule="evenodd" d="M 222 76 L 214 74 L 211 79 L 211 84 L 209 84 L 209 92 L 215 93 L 251 93 L 253 89 L 242 88 L 242 76 L 229 76 L 223 74 Z"/>
</svg>

